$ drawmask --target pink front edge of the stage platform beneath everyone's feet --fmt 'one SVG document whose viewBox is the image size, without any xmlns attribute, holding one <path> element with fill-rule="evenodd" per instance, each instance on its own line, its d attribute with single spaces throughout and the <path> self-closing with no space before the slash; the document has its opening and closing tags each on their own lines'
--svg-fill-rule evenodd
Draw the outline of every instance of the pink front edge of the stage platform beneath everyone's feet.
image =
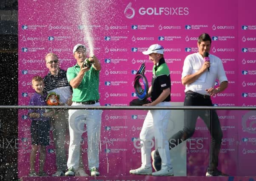
<svg viewBox="0 0 256 181">
<path fill-rule="evenodd" d="M 98 177 L 28 177 L 21 181 L 256 181 L 256 176 L 206 177 L 206 176 L 98 176 Z"/>
</svg>

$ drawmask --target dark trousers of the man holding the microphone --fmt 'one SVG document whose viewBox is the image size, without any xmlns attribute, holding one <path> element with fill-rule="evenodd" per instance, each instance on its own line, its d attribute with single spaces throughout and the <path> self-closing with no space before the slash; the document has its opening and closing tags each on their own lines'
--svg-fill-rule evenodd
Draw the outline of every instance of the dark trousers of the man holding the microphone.
<svg viewBox="0 0 256 181">
<path fill-rule="evenodd" d="M 203 96 L 188 91 L 185 95 L 184 106 L 212 106 L 212 101 L 210 100 L 210 96 Z M 212 117 L 210 117 L 210 111 L 212 111 Z M 184 128 L 169 139 L 169 148 L 171 150 L 193 135 L 198 117 L 201 117 L 205 122 L 211 135 L 210 164 L 208 167 L 208 171 L 211 172 L 218 167 L 218 156 L 222 142 L 222 130 L 215 110 L 184 110 Z M 211 125 L 210 120 L 212 121 Z"/>
</svg>

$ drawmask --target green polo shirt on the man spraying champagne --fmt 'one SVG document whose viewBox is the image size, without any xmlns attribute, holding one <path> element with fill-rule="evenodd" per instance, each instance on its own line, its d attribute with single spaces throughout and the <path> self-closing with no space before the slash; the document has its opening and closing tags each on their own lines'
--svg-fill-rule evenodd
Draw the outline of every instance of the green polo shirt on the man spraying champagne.
<svg viewBox="0 0 256 181">
<path fill-rule="evenodd" d="M 69 67 L 67 70 L 67 79 L 70 82 L 80 72 L 80 66 L 76 64 L 74 67 Z M 100 71 L 91 67 L 85 72 L 81 84 L 77 88 L 73 88 L 73 102 L 84 102 L 88 100 L 99 100 L 99 74 Z"/>
</svg>

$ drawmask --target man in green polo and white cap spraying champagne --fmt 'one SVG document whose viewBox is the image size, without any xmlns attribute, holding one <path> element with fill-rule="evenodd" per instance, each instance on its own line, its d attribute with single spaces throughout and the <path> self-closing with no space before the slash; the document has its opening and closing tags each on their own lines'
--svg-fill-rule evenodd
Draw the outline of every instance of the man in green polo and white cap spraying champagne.
<svg viewBox="0 0 256 181">
<path fill-rule="evenodd" d="M 77 64 L 67 70 L 68 82 L 73 89 L 71 106 L 100 106 L 99 103 L 99 74 L 100 61 L 96 56 L 88 58 L 91 67 L 84 64 L 86 48 L 77 44 L 73 49 Z M 88 66 L 88 67 L 87 67 Z M 74 176 L 79 167 L 81 136 L 86 131 L 88 136 L 88 167 L 91 176 L 99 173 L 99 142 L 102 110 L 74 110 L 68 111 L 70 142 L 68 148 L 68 171 L 66 176 Z M 86 130 L 83 129 L 86 124 Z"/>
</svg>

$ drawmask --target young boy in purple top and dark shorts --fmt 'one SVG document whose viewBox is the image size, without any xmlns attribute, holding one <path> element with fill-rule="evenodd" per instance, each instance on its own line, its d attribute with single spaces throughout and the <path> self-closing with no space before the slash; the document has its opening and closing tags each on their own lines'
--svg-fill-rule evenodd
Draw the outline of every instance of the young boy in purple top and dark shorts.
<svg viewBox="0 0 256 181">
<path fill-rule="evenodd" d="M 35 90 L 34 95 L 29 101 L 29 106 L 46 106 L 46 92 L 43 92 L 43 78 L 34 76 L 32 78 L 32 88 Z M 29 176 L 47 176 L 43 171 L 44 162 L 46 159 L 46 146 L 49 145 L 49 131 L 50 131 L 50 116 L 53 112 L 46 112 L 44 109 L 29 109 L 28 116 L 31 122 L 31 144 L 32 150 L 30 153 L 30 171 Z M 40 149 L 39 149 L 40 145 Z M 36 154 L 40 152 L 39 156 L 39 174 L 35 172 Z"/>
</svg>

